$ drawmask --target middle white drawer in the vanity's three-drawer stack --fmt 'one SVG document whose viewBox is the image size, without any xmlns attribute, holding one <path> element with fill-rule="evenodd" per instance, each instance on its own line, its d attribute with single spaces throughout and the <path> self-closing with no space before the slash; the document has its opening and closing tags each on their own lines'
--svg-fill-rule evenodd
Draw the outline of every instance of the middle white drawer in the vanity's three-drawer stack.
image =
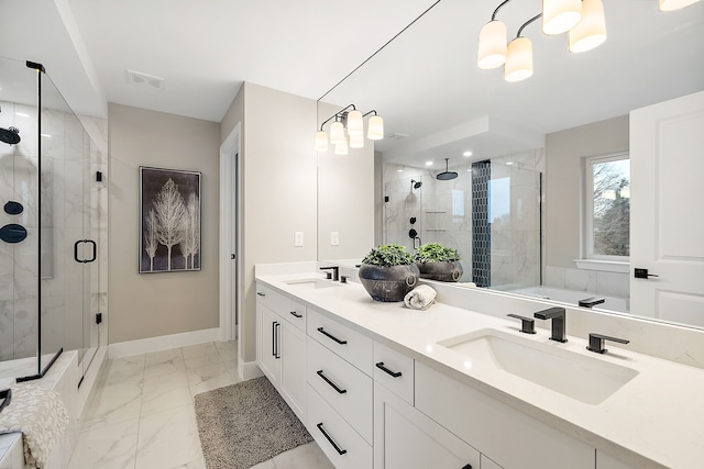
<svg viewBox="0 0 704 469">
<path fill-rule="evenodd" d="M 308 337 L 308 384 L 372 443 L 372 378 Z"/>
</svg>

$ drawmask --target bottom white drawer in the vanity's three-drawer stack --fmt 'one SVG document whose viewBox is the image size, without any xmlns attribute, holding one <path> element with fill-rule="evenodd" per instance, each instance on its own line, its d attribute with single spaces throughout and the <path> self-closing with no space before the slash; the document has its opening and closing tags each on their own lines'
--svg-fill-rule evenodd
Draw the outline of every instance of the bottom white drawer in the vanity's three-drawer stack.
<svg viewBox="0 0 704 469">
<path fill-rule="evenodd" d="M 337 469 L 372 469 L 372 446 L 310 384 L 306 426 Z"/>
</svg>

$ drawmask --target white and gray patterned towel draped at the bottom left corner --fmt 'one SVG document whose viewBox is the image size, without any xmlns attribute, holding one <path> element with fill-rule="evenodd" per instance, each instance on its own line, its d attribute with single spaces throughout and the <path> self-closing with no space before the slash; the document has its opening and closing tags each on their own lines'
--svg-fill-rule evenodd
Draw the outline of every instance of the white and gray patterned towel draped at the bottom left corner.
<svg viewBox="0 0 704 469">
<path fill-rule="evenodd" d="M 0 433 L 22 432 L 28 468 L 46 467 L 54 445 L 68 425 L 68 413 L 56 391 L 14 384 L 10 405 L 0 413 Z"/>
</svg>

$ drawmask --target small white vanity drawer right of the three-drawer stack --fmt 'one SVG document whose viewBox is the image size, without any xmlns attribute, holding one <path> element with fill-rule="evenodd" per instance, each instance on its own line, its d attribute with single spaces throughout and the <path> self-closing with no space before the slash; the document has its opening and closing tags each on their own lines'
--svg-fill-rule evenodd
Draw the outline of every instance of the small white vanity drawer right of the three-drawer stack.
<svg viewBox="0 0 704 469">
<path fill-rule="evenodd" d="M 414 359 L 374 342 L 374 381 L 414 405 Z"/>
</svg>

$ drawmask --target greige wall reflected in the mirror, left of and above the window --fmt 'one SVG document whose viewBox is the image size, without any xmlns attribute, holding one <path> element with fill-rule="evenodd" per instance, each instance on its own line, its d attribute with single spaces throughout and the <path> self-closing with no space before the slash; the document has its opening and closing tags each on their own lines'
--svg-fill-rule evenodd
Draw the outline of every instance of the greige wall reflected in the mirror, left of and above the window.
<svg viewBox="0 0 704 469">
<path fill-rule="evenodd" d="M 546 264 L 574 268 L 582 257 L 583 158 L 628 150 L 628 115 L 546 136 Z"/>
</svg>

